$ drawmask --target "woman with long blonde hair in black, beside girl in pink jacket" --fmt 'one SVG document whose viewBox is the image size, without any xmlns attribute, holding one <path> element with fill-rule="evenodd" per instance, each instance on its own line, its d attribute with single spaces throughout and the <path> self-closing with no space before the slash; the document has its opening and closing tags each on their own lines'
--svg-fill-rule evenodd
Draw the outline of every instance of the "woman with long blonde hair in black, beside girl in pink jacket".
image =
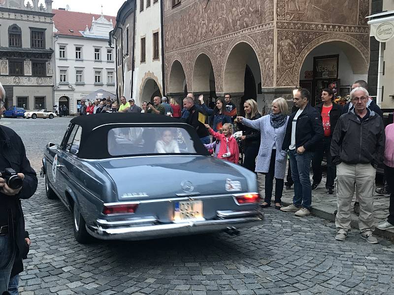
<svg viewBox="0 0 394 295">
<path fill-rule="evenodd" d="M 253 99 L 246 100 L 243 108 L 245 110 L 245 118 L 249 120 L 257 120 L 262 117 L 257 109 L 257 102 Z M 259 154 L 260 148 L 260 130 L 243 125 L 237 120 L 235 122 L 237 123 L 238 129 L 243 131 L 241 136 L 241 140 L 245 145 L 243 167 L 254 172 L 256 169 L 256 157 Z"/>
</svg>

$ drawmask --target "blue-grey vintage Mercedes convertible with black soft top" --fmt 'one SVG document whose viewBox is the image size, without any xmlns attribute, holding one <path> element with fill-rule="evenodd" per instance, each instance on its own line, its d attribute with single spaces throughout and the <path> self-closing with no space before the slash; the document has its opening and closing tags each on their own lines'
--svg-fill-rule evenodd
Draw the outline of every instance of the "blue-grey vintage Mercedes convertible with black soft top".
<svg viewBox="0 0 394 295">
<path fill-rule="evenodd" d="M 261 224 L 254 173 L 209 156 L 196 131 L 153 114 L 73 118 L 42 159 L 49 199 L 73 212 L 77 241 L 139 240 Z"/>
</svg>

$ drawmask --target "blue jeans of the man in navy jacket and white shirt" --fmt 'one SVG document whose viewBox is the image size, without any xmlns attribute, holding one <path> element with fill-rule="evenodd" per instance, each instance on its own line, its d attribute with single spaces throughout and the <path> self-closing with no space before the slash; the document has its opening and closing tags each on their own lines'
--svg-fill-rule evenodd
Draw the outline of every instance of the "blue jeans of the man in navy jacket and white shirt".
<svg viewBox="0 0 394 295">
<path fill-rule="evenodd" d="M 296 149 L 290 150 L 290 166 L 294 181 L 293 204 L 297 207 L 310 209 L 312 203 L 312 187 L 309 169 L 313 158 L 312 151 L 297 154 Z"/>
</svg>

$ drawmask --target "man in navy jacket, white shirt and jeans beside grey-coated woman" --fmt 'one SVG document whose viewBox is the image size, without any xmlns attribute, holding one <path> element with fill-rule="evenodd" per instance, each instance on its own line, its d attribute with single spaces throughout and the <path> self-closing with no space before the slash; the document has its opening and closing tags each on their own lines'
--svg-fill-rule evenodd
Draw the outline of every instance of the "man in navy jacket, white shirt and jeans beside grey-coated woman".
<svg viewBox="0 0 394 295">
<path fill-rule="evenodd" d="M 316 146 L 324 136 L 319 113 L 309 104 L 310 93 L 299 88 L 294 91 L 294 104 L 298 111 L 290 115 L 282 149 L 289 150 L 292 178 L 294 181 L 293 204 L 280 209 L 295 212 L 296 216 L 310 214 L 312 189 L 309 178 L 312 157 Z"/>
</svg>

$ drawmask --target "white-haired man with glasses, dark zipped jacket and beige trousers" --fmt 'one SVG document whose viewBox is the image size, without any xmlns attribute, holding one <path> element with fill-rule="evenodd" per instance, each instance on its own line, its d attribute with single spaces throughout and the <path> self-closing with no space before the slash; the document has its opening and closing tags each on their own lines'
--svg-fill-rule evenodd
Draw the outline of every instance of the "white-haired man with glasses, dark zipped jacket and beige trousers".
<svg viewBox="0 0 394 295">
<path fill-rule="evenodd" d="M 366 107 L 368 97 L 368 91 L 362 87 L 352 90 L 350 98 L 355 107 L 339 118 L 332 135 L 331 156 L 338 184 L 335 239 L 345 240 L 350 231 L 350 204 L 357 186 L 361 237 L 376 244 L 378 241 L 372 236 L 375 229 L 373 188 L 376 168 L 383 163 L 385 131 L 383 119 Z"/>
</svg>

